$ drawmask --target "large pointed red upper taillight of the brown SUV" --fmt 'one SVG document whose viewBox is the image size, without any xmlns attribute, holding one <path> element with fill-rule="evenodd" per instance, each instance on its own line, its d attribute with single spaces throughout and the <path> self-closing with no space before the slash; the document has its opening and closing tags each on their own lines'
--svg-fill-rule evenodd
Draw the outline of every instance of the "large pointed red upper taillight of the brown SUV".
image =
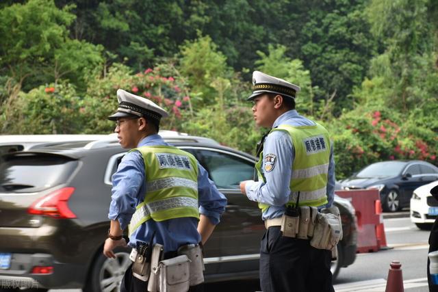
<svg viewBox="0 0 438 292">
<path fill-rule="evenodd" d="M 27 209 L 27 213 L 45 215 L 53 218 L 76 218 L 68 208 L 68 199 L 75 191 L 74 187 L 63 187 L 44 196 Z"/>
</svg>

